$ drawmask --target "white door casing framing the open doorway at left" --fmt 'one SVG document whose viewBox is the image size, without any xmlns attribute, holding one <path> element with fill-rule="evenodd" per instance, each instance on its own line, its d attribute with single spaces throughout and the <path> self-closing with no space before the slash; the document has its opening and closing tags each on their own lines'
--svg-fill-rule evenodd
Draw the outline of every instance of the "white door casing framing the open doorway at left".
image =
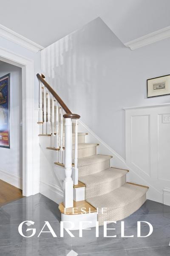
<svg viewBox="0 0 170 256">
<path fill-rule="evenodd" d="M 22 68 L 23 91 L 23 195 L 34 195 L 34 61 L 0 48 L 0 60 Z"/>
</svg>

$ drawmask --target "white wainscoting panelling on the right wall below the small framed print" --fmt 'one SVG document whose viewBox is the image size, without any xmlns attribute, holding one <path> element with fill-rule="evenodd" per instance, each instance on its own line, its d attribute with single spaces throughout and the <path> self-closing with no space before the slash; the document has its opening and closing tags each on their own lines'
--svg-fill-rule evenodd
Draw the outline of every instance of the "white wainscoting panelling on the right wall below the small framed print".
<svg viewBox="0 0 170 256">
<path fill-rule="evenodd" d="M 125 109 L 126 164 L 151 185 L 147 198 L 159 202 L 170 187 L 170 122 L 163 119 L 169 114 L 170 105 Z M 135 177 L 129 174 L 138 183 Z"/>
</svg>

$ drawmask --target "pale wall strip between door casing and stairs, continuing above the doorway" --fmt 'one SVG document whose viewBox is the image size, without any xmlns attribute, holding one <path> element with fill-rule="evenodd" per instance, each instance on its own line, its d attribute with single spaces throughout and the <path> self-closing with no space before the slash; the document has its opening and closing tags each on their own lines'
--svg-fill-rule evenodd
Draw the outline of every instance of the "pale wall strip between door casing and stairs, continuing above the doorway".
<svg viewBox="0 0 170 256">
<path fill-rule="evenodd" d="M 32 140 L 34 141 L 34 148 L 33 148 L 34 159 L 32 159 L 34 180 L 32 183 L 34 183 L 34 185 L 32 186 L 32 183 L 31 183 L 30 186 L 34 188 L 32 189 L 32 193 L 36 194 L 40 192 L 40 147 L 39 147 L 39 140 L 38 140 L 39 131 L 38 131 L 38 125 L 37 125 L 39 83 L 38 83 L 36 74 L 41 73 L 41 53 L 32 52 L 31 50 L 28 50 L 25 47 L 21 47 L 20 45 L 2 37 L 0 37 L 0 48 L 6 49 L 7 51 L 12 52 L 16 55 L 23 56 L 24 58 L 27 58 L 28 60 L 31 60 L 34 62 L 34 123 L 32 124 L 34 129 L 34 137 L 32 138 Z M 29 88 L 27 89 L 29 90 Z M 25 169 L 23 171 L 26 172 Z M 17 183 L 18 181 L 14 180 L 13 177 L 11 177 L 8 180 L 8 182 L 12 184 L 12 182 Z"/>
</svg>

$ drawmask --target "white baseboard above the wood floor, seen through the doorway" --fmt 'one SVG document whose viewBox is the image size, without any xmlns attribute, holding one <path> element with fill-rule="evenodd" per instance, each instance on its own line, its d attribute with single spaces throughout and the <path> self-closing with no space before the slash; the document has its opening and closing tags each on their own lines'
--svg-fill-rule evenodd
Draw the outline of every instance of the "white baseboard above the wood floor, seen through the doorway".
<svg viewBox="0 0 170 256">
<path fill-rule="evenodd" d="M 23 179 L 6 171 L 0 170 L 0 180 L 3 180 L 18 189 L 23 189 Z"/>
</svg>

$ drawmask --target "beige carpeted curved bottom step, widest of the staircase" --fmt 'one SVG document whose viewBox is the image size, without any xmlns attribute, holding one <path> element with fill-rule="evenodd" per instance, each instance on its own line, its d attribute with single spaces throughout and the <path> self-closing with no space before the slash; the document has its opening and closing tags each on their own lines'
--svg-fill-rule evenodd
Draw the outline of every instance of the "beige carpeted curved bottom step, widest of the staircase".
<svg viewBox="0 0 170 256">
<path fill-rule="evenodd" d="M 104 221 L 119 221 L 136 212 L 146 201 L 148 187 L 136 186 L 136 184 L 126 183 L 112 192 L 86 199 L 98 212 L 99 225 Z M 102 214 L 102 208 L 106 208 L 106 214 Z"/>
</svg>

